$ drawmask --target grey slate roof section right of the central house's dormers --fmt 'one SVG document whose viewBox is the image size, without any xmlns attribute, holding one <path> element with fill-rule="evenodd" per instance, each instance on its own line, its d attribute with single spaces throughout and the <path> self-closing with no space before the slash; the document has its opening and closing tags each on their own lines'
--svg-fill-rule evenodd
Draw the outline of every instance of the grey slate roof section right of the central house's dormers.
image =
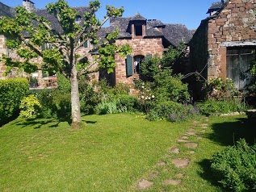
<svg viewBox="0 0 256 192">
<path fill-rule="evenodd" d="M 166 40 L 169 40 L 174 46 L 178 46 L 181 41 L 187 44 L 194 33 L 194 31 L 188 30 L 183 24 L 166 24 L 162 32 Z"/>
</svg>

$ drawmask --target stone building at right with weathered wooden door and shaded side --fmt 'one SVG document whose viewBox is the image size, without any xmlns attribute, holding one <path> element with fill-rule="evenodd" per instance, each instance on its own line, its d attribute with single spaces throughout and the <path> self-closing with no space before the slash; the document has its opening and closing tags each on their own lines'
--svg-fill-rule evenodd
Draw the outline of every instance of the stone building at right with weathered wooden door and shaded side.
<svg viewBox="0 0 256 192">
<path fill-rule="evenodd" d="M 256 48 L 255 0 L 222 0 L 213 3 L 208 18 L 202 20 L 190 46 L 190 72 L 206 80 L 231 78 L 238 90 L 250 81 L 246 73 Z M 194 79 L 195 80 L 195 79 Z M 191 86 L 200 98 L 202 83 Z"/>
</svg>

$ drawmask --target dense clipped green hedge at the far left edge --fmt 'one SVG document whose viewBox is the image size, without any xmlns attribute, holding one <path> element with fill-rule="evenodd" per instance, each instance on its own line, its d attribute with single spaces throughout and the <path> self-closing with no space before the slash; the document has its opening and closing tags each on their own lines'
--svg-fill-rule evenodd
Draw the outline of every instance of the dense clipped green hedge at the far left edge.
<svg viewBox="0 0 256 192">
<path fill-rule="evenodd" d="M 0 124 L 19 115 L 20 101 L 29 92 L 26 78 L 0 80 Z"/>
</svg>

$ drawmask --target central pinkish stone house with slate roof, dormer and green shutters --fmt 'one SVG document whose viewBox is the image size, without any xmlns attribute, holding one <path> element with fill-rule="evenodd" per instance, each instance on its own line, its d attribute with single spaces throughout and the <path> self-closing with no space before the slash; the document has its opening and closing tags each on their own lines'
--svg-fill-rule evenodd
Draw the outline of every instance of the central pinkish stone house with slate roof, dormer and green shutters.
<svg viewBox="0 0 256 192">
<path fill-rule="evenodd" d="M 145 19 L 138 13 L 129 18 L 111 18 L 110 27 L 103 31 L 113 31 L 115 27 L 120 29 L 115 44 L 129 44 L 132 54 L 126 57 L 115 56 L 115 72 L 107 78 L 111 85 L 119 82 L 132 85 L 132 81 L 140 77 L 141 62 L 148 56 L 162 56 L 169 46 L 177 47 L 181 42 L 187 43 L 192 36 L 192 31 L 182 24 L 164 24 L 157 19 Z M 103 38 L 104 35 L 106 33 L 100 36 Z M 106 77 L 106 73 L 103 76 Z"/>
</svg>

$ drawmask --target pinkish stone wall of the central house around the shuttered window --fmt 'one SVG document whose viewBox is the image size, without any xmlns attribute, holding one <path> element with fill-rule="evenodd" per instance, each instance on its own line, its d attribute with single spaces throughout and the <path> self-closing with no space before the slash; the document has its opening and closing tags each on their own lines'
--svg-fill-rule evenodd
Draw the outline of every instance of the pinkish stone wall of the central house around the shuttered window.
<svg viewBox="0 0 256 192">
<path fill-rule="evenodd" d="M 147 56 L 158 55 L 162 56 L 163 46 L 162 46 L 162 38 L 153 38 L 153 39 L 132 39 L 132 40 L 116 40 L 117 45 L 129 44 L 132 48 L 131 56 Z M 129 86 L 132 86 L 132 82 L 134 79 L 139 78 L 138 74 L 133 74 L 131 77 L 127 77 L 126 75 L 126 57 L 122 57 L 120 55 L 115 55 L 115 82 L 123 82 Z"/>
</svg>

